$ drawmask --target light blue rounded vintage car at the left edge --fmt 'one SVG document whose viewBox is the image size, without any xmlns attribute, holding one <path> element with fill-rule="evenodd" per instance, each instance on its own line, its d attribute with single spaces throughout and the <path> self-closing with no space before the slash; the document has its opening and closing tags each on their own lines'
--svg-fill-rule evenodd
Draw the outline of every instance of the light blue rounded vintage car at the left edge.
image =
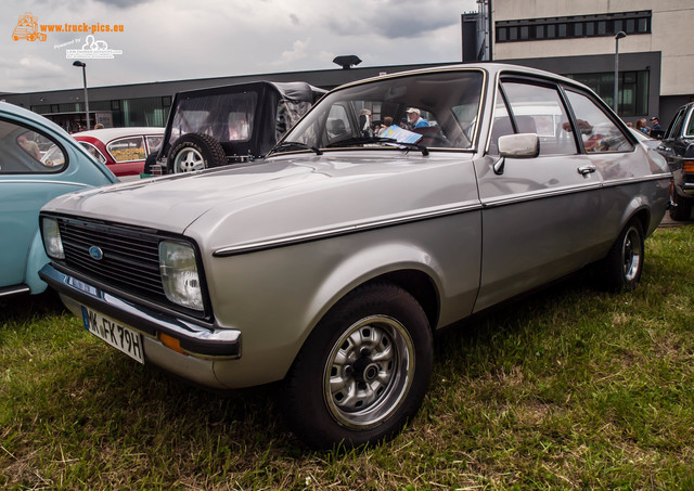
<svg viewBox="0 0 694 491">
<path fill-rule="evenodd" d="M 53 197 L 116 182 L 63 129 L 43 116 L 0 102 L 0 297 L 47 287 L 39 210 Z"/>
</svg>

